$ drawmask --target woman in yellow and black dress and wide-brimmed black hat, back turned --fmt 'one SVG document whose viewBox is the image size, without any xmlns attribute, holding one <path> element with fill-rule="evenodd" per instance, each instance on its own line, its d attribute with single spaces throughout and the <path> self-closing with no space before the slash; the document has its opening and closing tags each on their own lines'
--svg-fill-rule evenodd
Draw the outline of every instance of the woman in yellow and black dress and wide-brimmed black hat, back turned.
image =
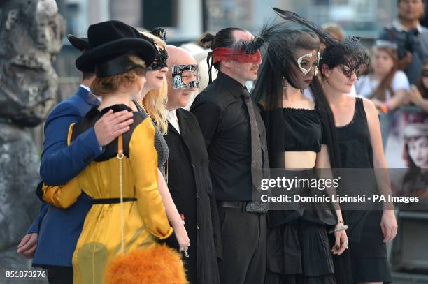
<svg viewBox="0 0 428 284">
<path fill-rule="evenodd" d="M 69 143 L 107 112 L 131 111 L 127 105 L 145 83 L 145 63 L 155 58 L 152 43 L 122 22 L 90 26 L 88 40 L 91 49 L 76 66 L 96 73 L 91 90 L 101 96 L 101 105 L 70 126 Z M 155 128 L 144 114 L 134 112 L 133 119 L 129 131 L 77 177 L 43 188 L 43 199 L 57 207 L 71 206 L 80 194 L 93 199 L 73 253 L 74 283 L 103 283 L 115 256 L 155 246 L 173 232 L 157 189 Z"/>
</svg>

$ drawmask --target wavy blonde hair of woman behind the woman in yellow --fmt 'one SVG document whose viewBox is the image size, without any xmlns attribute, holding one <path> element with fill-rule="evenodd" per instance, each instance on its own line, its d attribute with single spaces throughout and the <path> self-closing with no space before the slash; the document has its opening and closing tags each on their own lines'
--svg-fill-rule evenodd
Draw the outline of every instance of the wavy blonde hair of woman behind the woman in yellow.
<svg viewBox="0 0 428 284">
<path fill-rule="evenodd" d="M 152 35 L 147 31 L 140 31 L 143 36 L 147 36 L 155 41 L 156 46 L 159 48 L 166 48 L 166 43 L 157 36 Z M 143 107 L 148 112 L 152 119 L 157 122 L 157 127 L 162 134 L 166 134 L 168 130 L 168 121 L 166 120 L 166 102 L 168 101 L 168 82 L 166 77 L 162 82 L 160 89 L 152 89 L 145 94 L 143 98 Z"/>
</svg>

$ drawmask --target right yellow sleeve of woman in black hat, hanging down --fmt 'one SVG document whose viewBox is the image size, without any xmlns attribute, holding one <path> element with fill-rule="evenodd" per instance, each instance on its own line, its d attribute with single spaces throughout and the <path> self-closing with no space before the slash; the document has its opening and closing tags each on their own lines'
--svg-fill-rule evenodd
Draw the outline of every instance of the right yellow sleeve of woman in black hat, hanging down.
<svg viewBox="0 0 428 284">
<path fill-rule="evenodd" d="M 150 118 L 145 119 L 132 133 L 129 160 L 134 172 L 138 210 L 145 227 L 153 236 L 166 239 L 173 229 L 169 225 L 162 197 L 157 189 L 155 127 Z"/>
</svg>

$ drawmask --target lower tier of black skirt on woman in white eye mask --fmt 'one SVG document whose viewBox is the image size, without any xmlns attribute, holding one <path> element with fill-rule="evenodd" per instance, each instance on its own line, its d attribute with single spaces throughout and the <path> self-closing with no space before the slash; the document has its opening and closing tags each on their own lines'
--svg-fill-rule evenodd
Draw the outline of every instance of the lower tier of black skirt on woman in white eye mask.
<svg viewBox="0 0 428 284">
<path fill-rule="evenodd" d="M 295 221 L 267 239 L 266 284 L 336 284 L 327 225 Z"/>
</svg>

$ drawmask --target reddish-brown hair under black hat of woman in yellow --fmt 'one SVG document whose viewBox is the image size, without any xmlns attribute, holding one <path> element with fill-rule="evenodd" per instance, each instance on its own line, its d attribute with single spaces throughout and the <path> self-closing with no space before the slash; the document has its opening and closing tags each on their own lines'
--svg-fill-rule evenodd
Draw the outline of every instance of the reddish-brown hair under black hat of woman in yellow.
<svg viewBox="0 0 428 284">
<path fill-rule="evenodd" d="M 129 59 L 139 66 L 145 66 L 145 62 L 136 55 L 128 55 Z M 144 75 L 143 67 L 136 67 L 126 73 L 111 75 L 108 77 L 96 77 L 91 83 L 91 92 L 97 96 L 106 96 L 114 93 L 119 87 L 124 87 L 127 91 L 131 90 L 137 82 L 138 77 Z"/>
</svg>

